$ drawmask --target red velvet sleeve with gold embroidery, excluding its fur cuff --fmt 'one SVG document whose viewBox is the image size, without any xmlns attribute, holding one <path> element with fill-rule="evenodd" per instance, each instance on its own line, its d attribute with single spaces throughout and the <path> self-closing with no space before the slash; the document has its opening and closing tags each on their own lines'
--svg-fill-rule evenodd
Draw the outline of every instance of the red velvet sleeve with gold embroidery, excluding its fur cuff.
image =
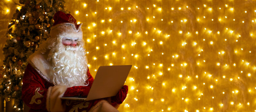
<svg viewBox="0 0 256 112">
<path fill-rule="evenodd" d="M 45 81 L 30 64 L 27 65 L 23 76 L 22 100 L 31 109 L 46 110 L 48 89 Z"/>
</svg>

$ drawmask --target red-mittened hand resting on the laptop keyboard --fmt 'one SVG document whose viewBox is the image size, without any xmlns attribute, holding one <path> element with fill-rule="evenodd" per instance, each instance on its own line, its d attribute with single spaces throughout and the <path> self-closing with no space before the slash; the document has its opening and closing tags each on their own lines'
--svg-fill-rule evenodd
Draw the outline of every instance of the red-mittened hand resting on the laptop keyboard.
<svg viewBox="0 0 256 112">
<path fill-rule="evenodd" d="M 63 97 L 66 96 L 87 96 L 90 91 L 90 87 L 88 86 L 73 86 L 67 88 Z"/>
</svg>

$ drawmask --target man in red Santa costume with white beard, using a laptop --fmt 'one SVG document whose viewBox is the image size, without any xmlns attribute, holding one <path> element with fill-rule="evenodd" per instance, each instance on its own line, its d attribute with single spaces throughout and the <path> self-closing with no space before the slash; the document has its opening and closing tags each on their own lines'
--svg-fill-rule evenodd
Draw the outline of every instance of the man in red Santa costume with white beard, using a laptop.
<svg viewBox="0 0 256 112">
<path fill-rule="evenodd" d="M 56 12 L 50 37 L 29 56 L 23 77 L 22 100 L 30 112 L 118 111 L 127 96 L 124 85 L 108 100 L 61 100 L 62 96 L 87 96 L 93 82 L 87 67 L 81 25 L 71 14 Z M 109 100 L 111 99 L 111 101 Z"/>
</svg>

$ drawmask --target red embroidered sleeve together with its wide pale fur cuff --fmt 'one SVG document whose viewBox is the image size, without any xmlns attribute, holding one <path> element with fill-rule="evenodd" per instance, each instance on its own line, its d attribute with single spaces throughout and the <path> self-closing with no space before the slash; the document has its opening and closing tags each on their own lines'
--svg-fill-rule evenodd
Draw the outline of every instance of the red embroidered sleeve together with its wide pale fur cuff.
<svg viewBox="0 0 256 112">
<path fill-rule="evenodd" d="M 30 64 L 27 65 L 23 76 L 22 100 L 31 109 L 64 112 L 65 106 L 62 106 L 60 97 L 66 89 L 66 86 L 52 86 Z"/>
</svg>

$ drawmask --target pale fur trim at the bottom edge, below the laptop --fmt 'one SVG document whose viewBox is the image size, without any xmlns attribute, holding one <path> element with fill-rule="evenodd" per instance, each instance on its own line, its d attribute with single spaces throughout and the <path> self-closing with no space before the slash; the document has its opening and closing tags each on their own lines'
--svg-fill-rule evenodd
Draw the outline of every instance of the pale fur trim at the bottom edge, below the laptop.
<svg viewBox="0 0 256 112">
<path fill-rule="evenodd" d="M 110 105 L 106 100 L 100 100 L 92 106 L 89 112 L 119 112 L 115 107 Z"/>
</svg>

